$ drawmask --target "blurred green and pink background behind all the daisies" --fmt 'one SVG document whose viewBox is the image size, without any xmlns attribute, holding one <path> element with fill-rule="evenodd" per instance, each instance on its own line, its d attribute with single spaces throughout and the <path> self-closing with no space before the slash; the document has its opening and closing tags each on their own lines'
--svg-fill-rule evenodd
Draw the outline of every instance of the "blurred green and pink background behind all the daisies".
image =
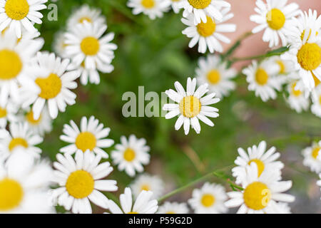
<svg viewBox="0 0 321 228">
<path fill-rule="evenodd" d="M 235 41 L 255 26 L 249 19 L 254 14 L 255 0 L 227 1 L 235 14 L 230 23 L 238 25 L 237 31 L 227 36 Z M 320 0 L 295 2 L 303 10 L 316 9 L 320 14 Z M 82 4 L 101 9 L 107 19 L 108 32 L 116 33 L 113 43 L 118 45 L 118 50 L 113 60 L 115 71 L 101 74 L 100 85 L 81 86 L 78 83 L 76 105 L 59 114 L 54 121 L 54 131 L 46 136 L 41 145 L 45 156 L 55 160 L 56 153 L 66 145 L 59 140 L 63 124 L 70 120 L 78 124 L 83 115 L 94 115 L 111 128 L 109 138 L 116 143 L 121 135 L 135 134 L 138 138 L 146 138 L 151 147 L 151 164 L 146 167 L 146 172 L 159 175 L 166 183 L 166 192 L 170 192 L 213 170 L 230 176 L 238 147 L 247 148 L 266 140 L 268 147 L 275 146 L 281 153 L 280 160 L 285 163 L 284 180 L 293 181 L 290 193 L 296 196 L 296 201 L 290 204 L 292 212 L 321 212 L 321 193 L 316 185 L 318 177 L 302 165 L 301 155 L 301 150 L 310 146 L 313 139 L 320 139 L 320 118 L 310 112 L 297 114 L 285 103 L 282 93 L 279 93 L 277 100 L 263 103 L 248 91 L 248 84 L 242 75 L 235 79 L 238 88 L 216 105 L 220 109 L 220 117 L 214 120 L 215 127 L 202 124 L 200 135 L 193 130 L 188 136 L 184 135 L 183 130 L 175 131 L 175 118 L 124 118 L 121 109 L 126 101 L 122 101 L 122 95 L 126 91 L 138 94 L 138 86 L 145 86 L 146 93 L 156 91 L 161 94 L 173 88 L 175 81 L 185 86 L 186 79 L 195 76 L 198 58 L 202 55 L 197 47 L 188 48 L 189 38 L 181 33 L 185 28 L 180 22 L 181 14 L 169 11 L 162 19 L 151 21 L 148 16 L 131 14 L 126 0 L 59 0 L 56 4 L 58 21 L 48 21 L 45 16 L 44 24 L 39 27 L 46 42 L 44 50 L 52 51 L 55 33 L 63 31 L 68 16 Z M 43 11 L 44 15 L 47 12 Z M 265 53 L 267 44 L 263 43 L 262 36 L 258 33 L 247 38 L 235 56 Z M 237 63 L 233 67 L 240 69 L 246 64 L 248 62 Z M 107 152 L 111 150 L 112 147 Z M 133 181 L 116 168 L 112 179 L 118 180 L 117 195 Z M 210 181 L 221 183 L 228 191 L 231 190 L 224 180 L 213 177 Z M 170 200 L 185 202 L 192 190 L 175 195 Z M 97 212 L 100 210 L 97 209 Z"/>
</svg>

